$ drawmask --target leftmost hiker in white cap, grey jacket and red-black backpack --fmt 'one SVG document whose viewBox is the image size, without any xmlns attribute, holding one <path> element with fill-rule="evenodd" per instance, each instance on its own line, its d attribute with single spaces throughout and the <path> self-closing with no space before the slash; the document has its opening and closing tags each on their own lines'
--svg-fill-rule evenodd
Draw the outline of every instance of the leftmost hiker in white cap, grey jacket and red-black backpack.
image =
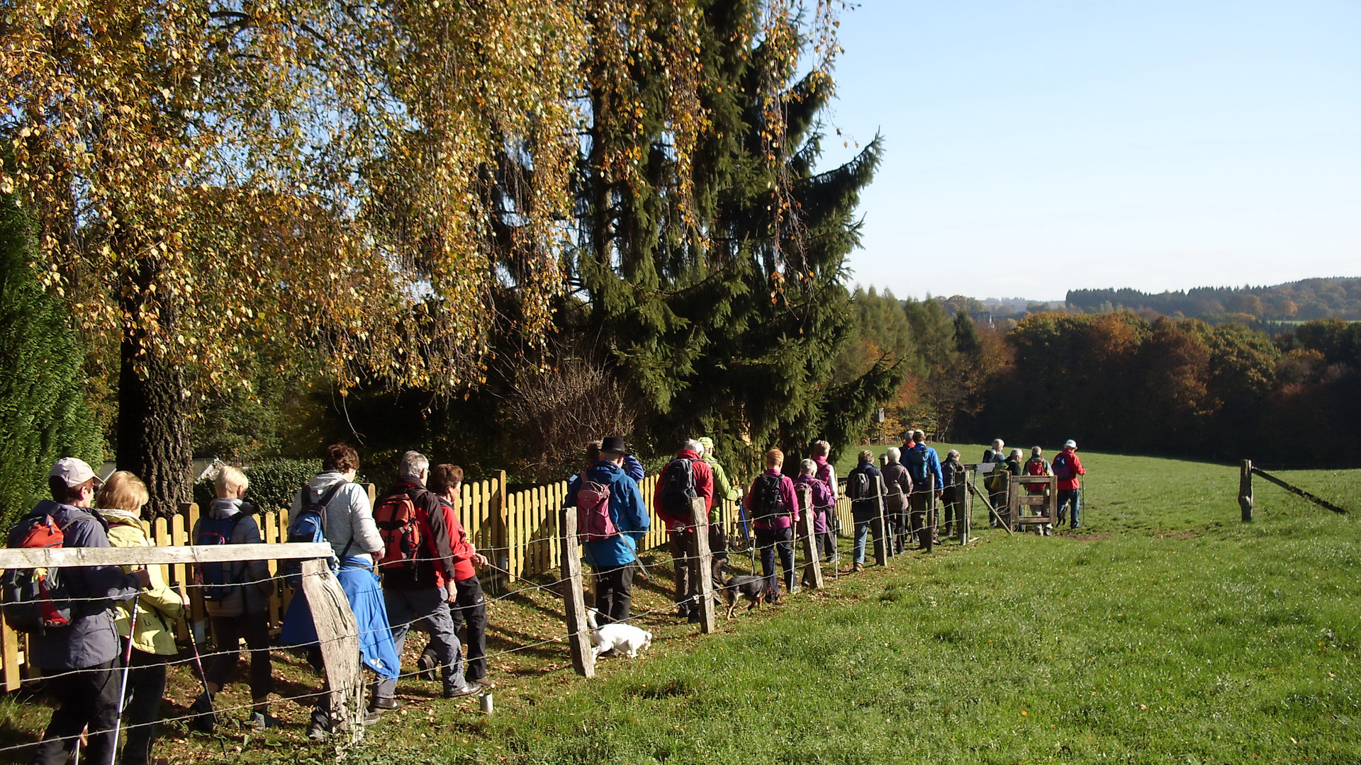
<svg viewBox="0 0 1361 765">
<path fill-rule="evenodd" d="M 97 482 L 84 460 L 61 457 L 48 474 L 50 500 L 19 519 L 10 531 L 10 547 L 109 547 L 108 521 L 93 510 Z M 64 675 L 48 683 L 57 708 L 38 742 L 33 761 L 64 765 L 88 727 L 87 762 L 113 761 L 118 724 L 118 632 L 114 602 L 131 600 L 151 584 L 151 573 L 125 573 L 118 566 L 34 569 L 4 573 L 4 618 L 29 633 L 29 663 L 45 675 Z M 79 670 L 79 671 L 76 671 Z"/>
</svg>

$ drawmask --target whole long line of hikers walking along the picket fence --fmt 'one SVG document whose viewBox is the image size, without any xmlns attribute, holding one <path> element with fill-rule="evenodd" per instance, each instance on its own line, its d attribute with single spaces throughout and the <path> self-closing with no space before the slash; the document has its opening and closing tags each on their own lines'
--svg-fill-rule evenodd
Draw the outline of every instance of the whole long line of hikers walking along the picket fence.
<svg viewBox="0 0 1361 765">
<path fill-rule="evenodd" d="M 1078 528 L 1078 481 L 1086 471 L 1068 441 L 1053 463 L 1032 449 L 1022 461 L 1019 449 L 1004 453 L 998 440 L 983 455 L 994 464 L 985 486 L 995 509 L 992 523 L 1007 523 L 1007 476 L 1056 475 L 1060 517 L 1071 509 Z M 728 539 L 720 523 L 723 501 L 740 500 L 739 528 L 759 551 L 766 599 L 778 604 L 795 591 L 793 535 L 800 513 L 811 508 L 815 555 L 837 558 L 836 505 L 844 493 L 851 501 L 853 554 L 842 573 L 864 569 L 866 544 L 887 524 L 883 543 L 901 551 L 916 538 L 936 542 L 943 525 L 949 536 L 965 519 L 965 467 L 954 449 L 940 460 L 916 430 L 901 449 L 890 448 L 883 468 L 874 452 L 862 451 L 859 464 L 841 486 L 827 461 L 830 445 L 817 441 L 811 457 L 799 463 L 798 476 L 784 471 L 780 449 L 765 453 L 765 471 L 739 494 L 715 459 L 713 441 L 686 441 L 661 470 L 652 508 L 666 524 L 675 564 L 676 615 L 700 619 L 701 572 L 697 538 L 705 535 L 716 561 L 715 574 L 728 558 Z M 370 505 L 365 487 L 355 483 L 359 456 L 348 445 L 328 446 L 323 470 L 301 487 L 290 509 L 289 542 L 331 546 L 332 569 L 355 615 L 361 662 L 372 670 L 370 700 L 363 723 L 401 708 L 396 686 L 401 651 L 412 628 L 429 633 L 418 660 L 422 679 L 442 681 L 445 697 L 461 697 L 495 683 L 486 664 L 486 598 L 476 569 L 487 559 L 476 551 L 456 512 L 463 470 L 430 464 L 419 452 L 407 452 L 399 478 Z M 638 542 L 649 531 L 648 504 L 640 483 L 642 464 L 625 438 L 611 436 L 587 445 L 587 467 L 568 487 L 565 508 L 576 508 L 578 539 L 595 580 L 595 604 L 602 622 L 630 619 L 633 574 Z M 99 481 L 94 470 L 73 457 L 59 460 L 49 474 L 52 498 L 38 502 L 10 532 L 10 547 L 150 547 L 142 510 L 147 486 L 127 471 Z M 191 532 L 195 544 L 259 544 L 263 542 L 255 508 L 246 500 L 249 481 L 223 466 L 214 482 L 216 498 Z M 1041 486 L 1040 490 L 1044 490 Z M 935 500 L 940 517 L 934 519 Z M 885 510 L 881 510 L 885 508 Z M 891 508 L 891 510 L 889 510 Z M 1048 528 L 1040 530 L 1048 534 Z M 783 576 L 777 576 L 778 568 Z M 299 585 L 299 573 L 284 566 L 282 579 L 294 595 L 278 642 L 306 653 L 320 671 L 321 651 Z M 249 653 L 250 716 L 255 728 L 279 726 L 269 715 L 274 691 L 271 636 L 267 618 L 280 577 L 265 561 L 200 564 L 193 587 L 201 588 L 204 610 L 216 652 L 197 664 L 203 693 L 191 705 L 191 726 L 212 731 L 218 723 L 214 697 L 237 670 L 240 641 Z M 783 580 L 783 585 L 781 585 Z M 4 618 L 29 634 L 29 662 L 44 677 L 59 679 L 48 687 L 57 704 L 37 746 L 34 762 L 67 762 L 84 734 L 83 757 L 93 762 L 125 765 L 150 762 L 161 720 L 166 667 L 178 656 L 176 625 L 188 604 L 185 588 L 173 589 L 158 566 L 86 565 L 64 569 L 12 569 L 4 573 Z M 459 630 L 464 638 L 459 638 Z M 467 656 L 464 657 L 464 645 Z M 195 648 L 195 651 L 197 651 Z M 197 659 L 197 652 L 195 653 Z M 328 694 L 316 696 L 308 736 L 325 739 L 332 728 Z M 121 753 L 118 730 L 127 731 Z"/>
</svg>

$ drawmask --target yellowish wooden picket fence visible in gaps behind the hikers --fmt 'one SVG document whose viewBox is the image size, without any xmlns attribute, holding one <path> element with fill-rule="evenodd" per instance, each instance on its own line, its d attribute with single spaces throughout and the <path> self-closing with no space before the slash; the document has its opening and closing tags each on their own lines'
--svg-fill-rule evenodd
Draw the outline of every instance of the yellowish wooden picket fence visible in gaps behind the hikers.
<svg viewBox="0 0 1361 765">
<path fill-rule="evenodd" d="M 483 584 L 490 589 L 501 589 L 519 580 L 540 576 L 555 579 L 562 557 L 558 509 L 562 508 L 566 498 L 568 482 L 535 486 L 510 494 L 505 493 L 505 486 L 506 476 L 501 471 L 489 479 L 465 482 L 459 502 L 459 520 L 467 530 L 468 538 L 478 551 L 495 566 L 483 569 Z M 666 524 L 652 506 L 656 486 L 657 476 L 644 478 L 638 486 L 651 517 L 651 528 L 638 544 L 640 551 L 667 546 Z M 372 504 L 374 486 L 367 485 L 367 490 Z M 738 493 L 742 494 L 740 490 Z M 842 535 L 849 536 L 852 530 L 851 502 L 845 498 L 838 500 L 836 515 L 841 520 Z M 180 513 L 169 519 L 143 521 L 142 525 L 158 547 L 186 546 L 192 544 L 189 535 L 199 516 L 199 506 L 186 504 L 180 506 Z M 287 540 L 289 510 L 264 512 L 256 516 L 256 520 L 265 543 L 275 544 Z M 721 502 L 719 523 L 723 524 L 729 539 L 742 538 L 736 501 L 724 500 Z M 279 574 L 279 561 L 267 561 L 267 566 L 269 576 Z M 192 583 L 193 574 L 184 564 L 163 565 L 161 569 L 165 580 L 170 584 Z M 283 623 L 290 599 L 291 591 L 282 581 L 276 581 L 268 608 L 271 628 Z M 203 642 L 208 636 L 208 626 L 199 588 L 189 588 L 189 622 L 193 625 L 193 640 Z M 177 637 L 182 642 L 189 640 L 185 622 L 178 623 L 177 632 Z M 8 625 L 0 622 L 0 683 L 5 691 L 18 690 L 24 678 L 37 674 L 27 664 L 24 641 L 26 636 L 15 633 Z"/>
</svg>

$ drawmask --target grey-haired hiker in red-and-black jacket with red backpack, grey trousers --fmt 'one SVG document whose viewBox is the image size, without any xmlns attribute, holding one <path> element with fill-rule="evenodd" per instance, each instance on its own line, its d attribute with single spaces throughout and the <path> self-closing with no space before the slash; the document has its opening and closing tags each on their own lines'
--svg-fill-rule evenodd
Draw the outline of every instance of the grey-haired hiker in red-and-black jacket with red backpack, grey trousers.
<svg viewBox="0 0 1361 765">
<path fill-rule="evenodd" d="M 459 579 L 453 535 L 444 502 L 426 489 L 430 459 L 421 452 L 401 455 L 397 482 L 374 504 L 373 520 L 382 536 L 382 602 L 392 626 L 392 645 L 401 656 L 411 628 L 430 634 L 436 649 L 444 697 L 457 698 L 482 690 L 463 677 L 463 652 L 449 604 L 457 600 Z M 397 679 L 380 678 L 373 685 L 369 708 L 400 709 Z"/>
</svg>

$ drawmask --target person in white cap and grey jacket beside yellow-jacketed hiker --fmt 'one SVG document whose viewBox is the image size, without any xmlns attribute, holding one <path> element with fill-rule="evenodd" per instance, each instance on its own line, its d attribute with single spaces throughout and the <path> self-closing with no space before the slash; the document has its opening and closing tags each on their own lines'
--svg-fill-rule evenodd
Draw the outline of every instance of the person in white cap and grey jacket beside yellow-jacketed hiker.
<svg viewBox="0 0 1361 765">
<path fill-rule="evenodd" d="M 61 530 L 63 547 L 109 547 L 106 523 L 90 509 L 99 483 L 84 460 L 61 457 L 48 474 L 50 500 L 42 500 L 10 531 L 10 547 L 38 525 L 50 523 Z M 114 726 L 118 721 L 118 632 L 113 603 L 131 600 L 151 583 L 146 569 L 122 573 L 118 566 L 72 566 L 61 572 L 64 596 L 76 603 L 71 622 L 29 634 L 29 662 L 48 675 L 71 672 L 48 683 L 59 706 L 38 742 L 33 761 L 61 765 L 71 758 L 80 731 L 90 728 L 83 760 L 110 762 L 114 754 Z"/>
</svg>

